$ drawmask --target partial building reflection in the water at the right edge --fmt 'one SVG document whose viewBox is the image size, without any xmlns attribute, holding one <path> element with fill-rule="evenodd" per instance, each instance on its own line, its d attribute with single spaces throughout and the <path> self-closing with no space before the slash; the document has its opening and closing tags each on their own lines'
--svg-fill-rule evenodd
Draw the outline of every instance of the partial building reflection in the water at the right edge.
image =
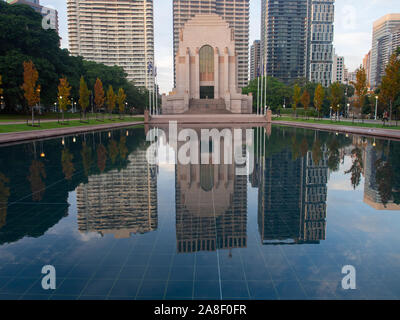
<svg viewBox="0 0 400 320">
<path fill-rule="evenodd" d="M 382 158 L 378 151 L 371 144 L 365 147 L 365 160 L 364 160 L 364 202 L 375 210 L 400 210 L 400 205 L 390 199 L 385 205 L 382 203 L 379 194 L 379 186 L 376 182 L 376 162 Z"/>
</svg>

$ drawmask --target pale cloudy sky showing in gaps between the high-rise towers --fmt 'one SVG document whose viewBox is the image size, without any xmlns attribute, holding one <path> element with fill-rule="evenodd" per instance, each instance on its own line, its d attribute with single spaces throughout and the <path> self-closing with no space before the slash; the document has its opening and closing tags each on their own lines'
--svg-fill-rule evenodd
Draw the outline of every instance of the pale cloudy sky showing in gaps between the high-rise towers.
<svg viewBox="0 0 400 320">
<path fill-rule="evenodd" d="M 66 0 L 41 0 L 58 10 L 61 45 L 68 48 Z M 336 0 L 334 46 L 345 57 L 349 71 L 354 71 L 371 49 L 372 24 L 388 13 L 400 13 L 399 0 Z M 172 0 L 154 0 L 155 59 L 160 91 L 173 86 Z M 261 0 L 250 0 L 250 43 L 260 38 Z"/>
</svg>

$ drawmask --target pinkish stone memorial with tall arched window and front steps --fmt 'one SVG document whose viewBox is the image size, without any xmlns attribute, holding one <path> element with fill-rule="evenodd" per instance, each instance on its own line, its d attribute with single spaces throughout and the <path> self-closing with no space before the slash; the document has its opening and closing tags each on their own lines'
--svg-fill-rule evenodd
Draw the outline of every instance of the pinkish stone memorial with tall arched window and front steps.
<svg viewBox="0 0 400 320">
<path fill-rule="evenodd" d="M 162 96 L 164 114 L 252 113 L 238 88 L 235 32 L 217 14 L 198 14 L 179 32 L 176 87 Z"/>
</svg>

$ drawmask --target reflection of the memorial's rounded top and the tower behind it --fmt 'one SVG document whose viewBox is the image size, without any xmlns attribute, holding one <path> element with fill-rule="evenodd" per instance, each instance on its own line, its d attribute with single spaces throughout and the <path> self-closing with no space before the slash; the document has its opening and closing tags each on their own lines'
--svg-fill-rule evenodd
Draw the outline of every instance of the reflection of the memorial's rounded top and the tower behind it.
<svg viewBox="0 0 400 320">
<path fill-rule="evenodd" d="M 223 162 L 223 141 L 220 150 Z M 247 177 L 236 175 L 236 168 L 235 164 L 176 165 L 179 253 L 247 246 Z"/>
</svg>

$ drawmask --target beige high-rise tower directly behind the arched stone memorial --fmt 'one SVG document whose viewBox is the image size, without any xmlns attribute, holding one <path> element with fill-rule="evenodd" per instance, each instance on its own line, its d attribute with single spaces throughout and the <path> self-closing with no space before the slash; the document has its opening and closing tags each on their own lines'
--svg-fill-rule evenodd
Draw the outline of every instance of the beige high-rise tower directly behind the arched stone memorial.
<svg viewBox="0 0 400 320">
<path fill-rule="evenodd" d="M 179 32 L 196 14 L 218 14 L 234 30 L 238 57 L 238 86 L 245 87 L 249 77 L 249 3 L 250 0 L 174 0 L 174 57 L 179 48 Z M 174 87 L 176 66 L 174 60 Z"/>
</svg>

